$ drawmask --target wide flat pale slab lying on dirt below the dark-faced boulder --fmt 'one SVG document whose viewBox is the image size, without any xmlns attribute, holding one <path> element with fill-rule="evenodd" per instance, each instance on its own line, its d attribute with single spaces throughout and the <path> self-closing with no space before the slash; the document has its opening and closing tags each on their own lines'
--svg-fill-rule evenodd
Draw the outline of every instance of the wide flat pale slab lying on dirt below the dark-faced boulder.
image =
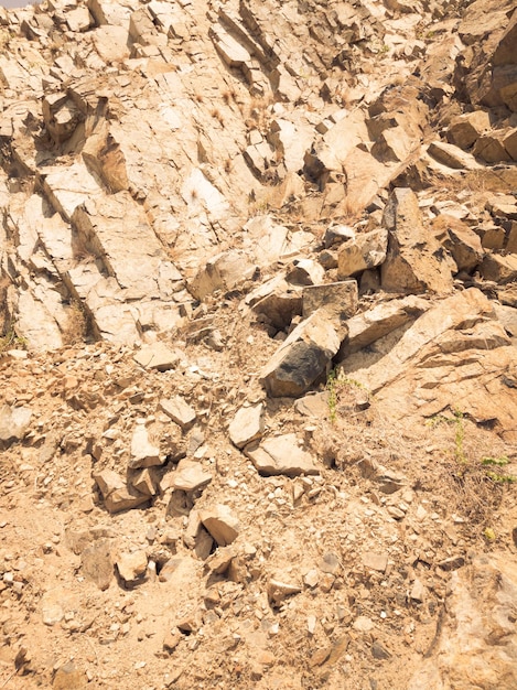
<svg viewBox="0 0 517 690">
<path fill-rule="evenodd" d="M 259 474 L 265 476 L 284 474 L 297 477 L 300 474 L 320 474 L 314 459 L 300 448 L 294 433 L 272 436 L 260 444 L 250 444 L 245 449 L 245 454 Z"/>
</svg>

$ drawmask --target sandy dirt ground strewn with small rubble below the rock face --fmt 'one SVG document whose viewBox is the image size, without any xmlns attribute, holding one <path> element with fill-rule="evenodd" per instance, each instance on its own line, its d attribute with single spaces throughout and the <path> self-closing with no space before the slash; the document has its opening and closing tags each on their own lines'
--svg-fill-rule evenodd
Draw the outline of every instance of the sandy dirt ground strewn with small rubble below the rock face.
<svg viewBox="0 0 517 690">
<path fill-rule="evenodd" d="M 2 402 L 32 419 L 1 460 L 0 687 L 406 688 L 440 639 L 452 574 L 474 553 L 515 558 L 502 478 L 515 448 L 459 411 L 394 424 L 348 379 L 322 384 L 312 416 L 267 400 L 255 381 L 271 342 L 222 314 L 225 349 L 183 343 L 163 373 L 100 343 L 3 356 Z M 158 403 L 176 393 L 196 411 L 187 455 L 212 475 L 195 508 L 224 504 L 239 520 L 208 558 L 185 543 L 168 490 L 110 515 L 91 478 L 123 465 L 139 419 L 175 425 Z M 294 432 L 320 476 L 257 473 L 227 432 L 245 399 L 263 400 L 265 433 Z M 160 486 L 173 472 L 168 462 Z M 93 545 L 110 554 L 105 590 Z M 126 582 L 117 563 L 130 553 L 147 569 Z"/>
</svg>

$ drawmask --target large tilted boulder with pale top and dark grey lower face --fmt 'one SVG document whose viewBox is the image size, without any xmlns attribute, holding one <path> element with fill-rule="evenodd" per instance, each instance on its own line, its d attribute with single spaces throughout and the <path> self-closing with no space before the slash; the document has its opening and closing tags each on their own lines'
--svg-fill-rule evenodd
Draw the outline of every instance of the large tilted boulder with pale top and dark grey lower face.
<svg viewBox="0 0 517 690">
<path fill-rule="evenodd" d="M 298 397 L 325 373 L 346 334 L 346 326 L 324 310 L 297 326 L 260 373 L 273 398 Z"/>
</svg>

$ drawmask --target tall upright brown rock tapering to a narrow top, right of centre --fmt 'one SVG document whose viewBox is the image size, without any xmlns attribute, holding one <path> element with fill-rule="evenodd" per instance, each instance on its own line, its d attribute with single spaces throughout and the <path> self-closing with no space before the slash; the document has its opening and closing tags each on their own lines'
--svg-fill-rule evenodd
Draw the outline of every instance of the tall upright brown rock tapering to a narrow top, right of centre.
<svg viewBox="0 0 517 690">
<path fill-rule="evenodd" d="M 450 292 L 453 267 L 438 240 L 426 231 L 417 196 L 411 190 L 394 191 L 384 223 L 389 230 L 389 244 L 380 268 L 383 289 L 407 293 Z"/>
</svg>

